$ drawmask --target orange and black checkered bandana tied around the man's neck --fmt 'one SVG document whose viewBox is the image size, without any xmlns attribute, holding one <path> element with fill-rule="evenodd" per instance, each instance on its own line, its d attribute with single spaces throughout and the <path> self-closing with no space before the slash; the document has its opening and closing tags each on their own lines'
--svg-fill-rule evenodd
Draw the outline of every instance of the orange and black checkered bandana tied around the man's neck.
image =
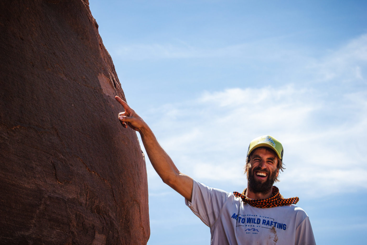
<svg viewBox="0 0 367 245">
<path fill-rule="evenodd" d="M 275 185 L 273 185 L 272 197 L 268 199 L 249 199 L 245 196 L 246 190 L 247 188 L 243 190 L 242 194 L 234 191 L 233 195 L 235 195 L 235 197 L 240 197 L 244 203 L 248 203 L 251 206 L 257 208 L 273 208 L 278 206 L 296 204 L 299 201 L 298 197 L 283 198 L 283 196 L 279 193 L 278 187 L 276 187 Z"/>
</svg>

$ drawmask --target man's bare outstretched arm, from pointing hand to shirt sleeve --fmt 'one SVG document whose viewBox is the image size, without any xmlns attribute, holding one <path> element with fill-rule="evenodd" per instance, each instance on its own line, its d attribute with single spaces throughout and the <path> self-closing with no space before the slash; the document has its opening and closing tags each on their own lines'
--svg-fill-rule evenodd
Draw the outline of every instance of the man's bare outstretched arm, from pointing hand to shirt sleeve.
<svg viewBox="0 0 367 245">
<path fill-rule="evenodd" d="M 159 177 L 161 177 L 164 183 L 191 202 L 193 186 L 192 178 L 178 171 L 177 167 L 172 162 L 172 159 L 160 146 L 152 130 L 150 130 L 144 120 L 133 109 L 131 109 L 125 101 L 121 100 L 120 97 L 116 96 L 115 98 L 125 109 L 124 112 L 119 114 L 121 124 L 125 128 L 130 126 L 132 129 L 140 133 L 145 151 Z"/>
</svg>

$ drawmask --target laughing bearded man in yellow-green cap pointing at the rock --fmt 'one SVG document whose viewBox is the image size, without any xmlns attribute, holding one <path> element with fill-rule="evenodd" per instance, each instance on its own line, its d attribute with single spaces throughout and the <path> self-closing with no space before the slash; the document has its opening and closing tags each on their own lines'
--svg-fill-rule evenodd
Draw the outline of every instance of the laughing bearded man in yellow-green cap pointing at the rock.
<svg viewBox="0 0 367 245">
<path fill-rule="evenodd" d="M 293 204 L 298 197 L 283 198 L 277 187 L 283 171 L 283 146 L 266 135 L 255 138 L 248 147 L 245 172 L 247 188 L 226 192 L 207 187 L 179 172 L 159 145 L 152 130 L 126 102 L 119 120 L 124 127 L 138 131 L 149 160 L 164 183 L 185 198 L 186 205 L 210 227 L 212 245 L 298 244 L 313 245 L 315 238 L 309 217 Z"/>
</svg>

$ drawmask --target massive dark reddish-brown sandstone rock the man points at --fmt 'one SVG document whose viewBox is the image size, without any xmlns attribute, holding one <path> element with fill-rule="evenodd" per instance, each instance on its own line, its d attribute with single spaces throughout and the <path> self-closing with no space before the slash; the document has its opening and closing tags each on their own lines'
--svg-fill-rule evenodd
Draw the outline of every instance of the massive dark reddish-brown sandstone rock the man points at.
<svg viewBox="0 0 367 245">
<path fill-rule="evenodd" d="M 0 244 L 146 244 L 138 138 L 88 1 L 0 1 Z"/>
</svg>

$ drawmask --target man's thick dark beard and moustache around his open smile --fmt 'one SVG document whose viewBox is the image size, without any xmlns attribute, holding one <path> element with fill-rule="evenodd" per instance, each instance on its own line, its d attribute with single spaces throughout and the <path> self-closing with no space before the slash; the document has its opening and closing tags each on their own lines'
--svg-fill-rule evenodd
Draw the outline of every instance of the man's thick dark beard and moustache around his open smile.
<svg viewBox="0 0 367 245">
<path fill-rule="evenodd" d="M 260 182 L 260 181 L 255 180 L 256 171 L 266 173 L 266 176 L 268 176 L 268 179 L 266 179 L 265 182 Z M 250 187 L 251 191 L 254 193 L 266 194 L 273 187 L 273 184 L 276 179 L 276 173 L 277 173 L 276 170 L 270 173 L 269 170 L 261 169 L 261 167 L 259 166 L 255 167 L 254 169 L 250 167 L 250 169 L 248 169 L 247 171 L 248 187 Z"/>
</svg>

